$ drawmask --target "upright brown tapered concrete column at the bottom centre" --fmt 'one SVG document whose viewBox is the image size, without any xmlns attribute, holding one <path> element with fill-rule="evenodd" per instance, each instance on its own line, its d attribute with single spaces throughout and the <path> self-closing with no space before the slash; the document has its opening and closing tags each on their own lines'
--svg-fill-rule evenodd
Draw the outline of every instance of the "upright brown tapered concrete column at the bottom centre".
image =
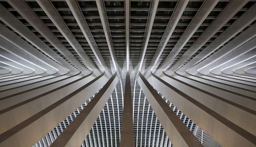
<svg viewBox="0 0 256 147">
<path fill-rule="evenodd" d="M 127 72 L 125 79 L 124 110 L 121 129 L 120 147 L 134 147 L 132 118 L 132 93 L 130 74 Z"/>
</svg>

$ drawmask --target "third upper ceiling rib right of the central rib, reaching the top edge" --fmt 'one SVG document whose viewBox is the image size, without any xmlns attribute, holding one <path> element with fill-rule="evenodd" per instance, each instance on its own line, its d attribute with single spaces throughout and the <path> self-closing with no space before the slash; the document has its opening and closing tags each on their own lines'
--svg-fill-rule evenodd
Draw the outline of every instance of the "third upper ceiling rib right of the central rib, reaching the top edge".
<svg viewBox="0 0 256 147">
<path fill-rule="evenodd" d="M 168 57 L 164 60 L 162 65 L 157 69 L 156 75 L 162 74 L 165 67 L 169 65 L 170 62 L 177 56 L 177 54 L 180 52 L 180 50 L 186 45 L 190 37 L 196 32 L 196 30 L 199 28 L 199 26 L 203 23 L 204 19 L 209 15 L 209 13 L 212 11 L 214 6 L 219 2 L 219 0 L 213 0 L 213 1 L 205 1 L 199 11 L 196 13 L 196 16 L 193 18 L 191 23 L 188 25 L 188 28 L 183 33 L 177 44 L 172 49 L 171 53 L 168 55 Z M 167 31 L 167 30 L 166 30 Z M 167 39 L 167 40 L 166 40 Z M 164 46 L 162 46 L 162 50 L 165 48 L 169 38 L 166 38 L 165 40 L 162 39 L 160 44 L 164 43 Z M 163 43 L 162 43 L 163 42 Z M 160 47 L 160 46 L 159 46 Z M 158 48 L 159 48 L 158 47 Z M 162 53 L 162 52 L 161 52 Z"/>
</svg>

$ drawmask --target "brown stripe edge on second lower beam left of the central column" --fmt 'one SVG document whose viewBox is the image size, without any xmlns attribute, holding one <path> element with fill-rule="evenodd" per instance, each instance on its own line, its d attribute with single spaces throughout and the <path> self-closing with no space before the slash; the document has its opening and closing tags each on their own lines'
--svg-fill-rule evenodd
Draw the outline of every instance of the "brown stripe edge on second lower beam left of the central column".
<svg viewBox="0 0 256 147">
<path fill-rule="evenodd" d="M 91 73 L 92 74 L 92 73 Z M 90 74 L 90 75 L 91 75 Z M 54 108 L 60 106 L 63 102 L 67 101 L 68 99 L 70 99 L 71 97 L 73 97 L 74 95 L 76 95 L 77 93 L 81 92 L 84 88 L 87 88 L 88 86 L 90 86 L 92 83 L 94 83 L 95 81 L 97 81 L 98 79 L 100 79 L 100 77 L 102 77 L 105 74 L 102 73 L 100 76 L 96 77 L 95 79 L 93 79 L 92 81 L 90 81 L 89 83 L 85 84 L 84 86 L 82 86 L 81 88 L 78 88 L 76 91 L 72 92 L 71 94 L 68 94 L 67 96 L 65 96 L 64 98 L 60 99 L 59 101 L 56 101 L 55 103 L 53 103 L 52 105 L 48 106 L 47 108 L 43 109 L 42 111 L 36 113 L 35 115 L 29 117 L 27 120 L 19 123 L 18 125 L 14 126 L 13 128 L 5 131 L 4 133 L 2 133 L 0 135 L 0 143 L 2 143 L 4 140 L 8 139 L 9 137 L 11 137 L 12 135 L 14 135 L 15 133 L 19 132 L 21 129 L 24 129 L 26 126 L 28 126 L 29 124 L 35 122 L 37 119 L 41 118 L 42 116 L 44 116 L 46 113 L 52 111 Z M 89 75 L 86 75 L 89 76 Z M 83 77 L 84 78 L 84 77 Z"/>
</svg>

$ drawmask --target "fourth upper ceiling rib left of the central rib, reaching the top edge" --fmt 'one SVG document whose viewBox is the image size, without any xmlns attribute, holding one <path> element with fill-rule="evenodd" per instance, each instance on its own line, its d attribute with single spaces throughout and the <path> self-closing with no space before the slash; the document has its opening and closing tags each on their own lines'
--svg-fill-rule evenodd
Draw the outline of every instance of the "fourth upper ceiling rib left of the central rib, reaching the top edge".
<svg viewBox="0 0 256 147">
<path fill-rule="evenodd" d="M 52 46 L 54 46 L 61 54 L 63 54 L 71 63 L 76 65 L 80 70 L 86 70 L 84 65 L 72 55 L 68 49 L 57 39 L 57 37 L 49 30 L 49 28 L 37 17 L 35 12 L 26 4 L 25 1 L 9 0 L 9 4 L 24 17 Z"/>
</svg>

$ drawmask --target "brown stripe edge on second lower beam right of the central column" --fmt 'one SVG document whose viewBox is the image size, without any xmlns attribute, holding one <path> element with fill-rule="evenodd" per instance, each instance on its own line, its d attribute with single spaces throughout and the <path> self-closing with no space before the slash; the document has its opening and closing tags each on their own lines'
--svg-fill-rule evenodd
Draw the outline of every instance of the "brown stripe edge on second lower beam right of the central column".
<svg viewBox="0 0 256 147">
<path fill-rule="evenodd" d="M 154 75 L 153 75 L 154 76 Z M 224 125 L 226 125 L 228 128 L 232 129 L 233 131 L 235 131 L 237 134 L 241 135 L 241 136 L 246 136 L 246 139 L 248 141 L 250 141 L 251 143 L 256 145 L 256 136 L 252 135 L 251 133 L 247 132 L 246 130 L 242 129 L 241 127 L 239 127 L 238 125 L 236 125 L 235 123 L 229 121 L 228 119 L 226 119 L 225 117 L 223 117 L 222 115 L 214 112 L 212 109 L 204 106 L 202 103 L 200 103 L 199 101 L 196 101 L 195 99 L 193 99 L 192 97 L 188 96 L 187 94 L 181 92 L 179 89 L 173 87 L 172 85 L 170 85 L 169 83 L 165 82 L 164 80 L 162 80 L 161 78 L 157 77 L 156 75 L 154 76 L 157 80 L 159 80 L 160 82 L 162 82 L 164 85 L 168 86 L 169 88 L 171 88 L 173 91 L 175 91 L 176 93 L 180 94 L 182 97 L 184 97 L 185 99 L 187 99 L 188 101 L 190 101 L 191 103 L 193 103 L 194 105 L 196 105 L 197 107 L 199 107 L 200 109 L 202 109 L 204 112 L 208 113 L 209 115 L 211 115 L 212 117 L 214 117 L 216 120 L 220 121 L 221 123 L 223 123 Z"/>
</svg>

